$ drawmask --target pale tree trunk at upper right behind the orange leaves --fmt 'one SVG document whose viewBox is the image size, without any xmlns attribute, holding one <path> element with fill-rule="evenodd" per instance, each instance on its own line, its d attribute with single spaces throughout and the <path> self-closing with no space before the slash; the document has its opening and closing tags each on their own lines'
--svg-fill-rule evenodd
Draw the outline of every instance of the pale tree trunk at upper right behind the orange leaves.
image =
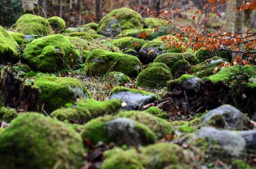
<svg viewBox="0 0 256 169">
<path fill-rule="evenodd" d="M 244 30 L 244 12 L 237 11 L 235 9 L 243 4 L 243 0 L 227 1 L 226 9 L 226 31 L 232 33 L 241 33 Z M 242 44 L 236 45 L 239 50 L 242 49 Z M 232 60 L 235 60 L 239 56 L 242 59 L 242 54 L 232 53 Z"/>
</svg>

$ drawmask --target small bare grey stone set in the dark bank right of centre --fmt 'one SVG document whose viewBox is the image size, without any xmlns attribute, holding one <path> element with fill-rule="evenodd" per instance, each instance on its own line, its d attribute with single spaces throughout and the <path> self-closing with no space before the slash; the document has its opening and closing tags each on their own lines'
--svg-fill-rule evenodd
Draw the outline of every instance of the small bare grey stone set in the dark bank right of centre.
<svg viewBox="0 0 256 169">
<path fill-rule="evenodd" d="M 185 90 L 193 90 L 197 93 L 200 91 L 201 80 L 198 77 L 185 79 L 180 85 Z"/>
</svg>

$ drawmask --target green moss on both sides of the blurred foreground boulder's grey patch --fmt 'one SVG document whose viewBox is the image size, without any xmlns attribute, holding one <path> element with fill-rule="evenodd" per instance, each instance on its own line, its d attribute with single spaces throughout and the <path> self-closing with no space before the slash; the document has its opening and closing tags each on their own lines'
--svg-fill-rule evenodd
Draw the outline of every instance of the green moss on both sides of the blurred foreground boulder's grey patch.
<svg viewBox="0 0 256 169">
<path fill-rule="evenodd" d="M 106 126 L 109 121 L 118 118 L 117 116 L 104 116 L 98 117 L 89 121 L 81 132 L 81 136 L 89 139 L 92 144 L 97 144 L 99 141 L 104 143 L 116 142 L 116 139 L 111 133 L 106 129 Z M 131 127 L 131 126 L 130 126 Z M 142 139 L 142 144 L 155 143 L 155 135 L 152 133 L 148 127 L 140 123 L 135 123 L 135 126 L 132 128 L 139 133 L 140 139 Z M 124 138 L 126 139 L 126 138 Z"/>
</svg>

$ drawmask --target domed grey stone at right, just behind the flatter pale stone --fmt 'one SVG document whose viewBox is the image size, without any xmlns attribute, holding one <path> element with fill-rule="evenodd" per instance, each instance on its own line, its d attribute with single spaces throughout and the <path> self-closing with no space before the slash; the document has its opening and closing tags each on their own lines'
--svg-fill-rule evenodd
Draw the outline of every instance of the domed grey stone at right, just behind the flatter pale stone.
<svg viewBox="0 0 256 169">
<path fill-rule="evenodd" d="M 218 116 L 218 118 L 216 118 L 216 116 Z M 202 123 L 207 123 L 211 119 L 214 120 L 214 118 L 218 120 L 220 120 L 221 118 L 221 120 L 224 120 L 224 126 L 228 127 L 231 130 L 241 130 L 248 128 L 248 120 L 246 116 L 244 116 L 243 113 L 240 112 L 240 110 L 228 104 L 210 110 L 210 112 L 205 114 L 205 116 L 203 117 Z M 222 128 L 222 126 L 223 125 L 216 127 Z"/>
</svg>

